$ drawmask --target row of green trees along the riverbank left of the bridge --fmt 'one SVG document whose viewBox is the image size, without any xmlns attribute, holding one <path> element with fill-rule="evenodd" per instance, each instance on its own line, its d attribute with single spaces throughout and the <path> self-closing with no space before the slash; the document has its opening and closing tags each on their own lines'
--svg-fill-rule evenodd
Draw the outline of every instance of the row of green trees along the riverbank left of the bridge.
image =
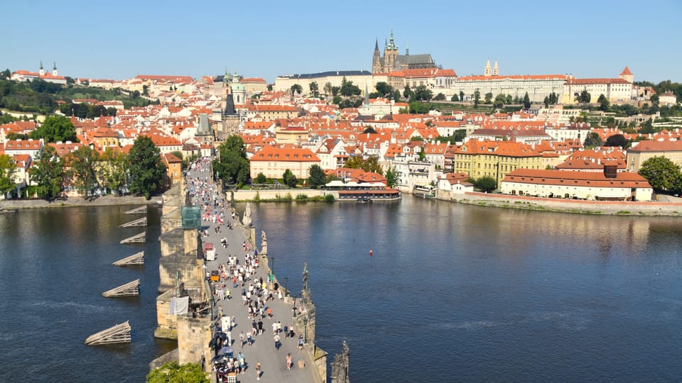
<svg viewBox="0 0 682 383">
<path fill-rule="evenodd" d="M 128 155 L 107 148 L 102 155 L 87 145 L 60 157 L 51 145 L 45 145 L 29 170 L 36 194 L 42 199 L 57 199 L 67 187 L 82 196 L 90 197 L 98 190 L 121 194 L 124 189 L 149 199 L 163 187 L 166 166 L 161 152 L 151 138 L 140 136 Z M 0 155 L 0 191 L 7 193 L 15 187 L 13 174 L 16 163 L 9 155 Z"/>
</svg>

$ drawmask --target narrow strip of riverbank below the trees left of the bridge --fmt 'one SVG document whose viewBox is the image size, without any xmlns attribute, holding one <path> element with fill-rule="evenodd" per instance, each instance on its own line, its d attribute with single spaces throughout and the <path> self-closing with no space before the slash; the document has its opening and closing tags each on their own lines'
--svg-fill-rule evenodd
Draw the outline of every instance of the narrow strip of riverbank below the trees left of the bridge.
<svg viewBox="0 0 682 383">
<path fill-rule="evenodd" d="M 58 208 L 65 206 L 114 206 L 114 205 L 151 205 L 163 201 L 161 196 L 154 196 L 146 200 L 144 196 L 99 196 L 95 199 L 83 197 L 70 197 L 56 201 L 44 199 L 4 199 L 0 201 L 0 207 L 7 210 L 14 209 L 43 209 Z"/>
</svg>

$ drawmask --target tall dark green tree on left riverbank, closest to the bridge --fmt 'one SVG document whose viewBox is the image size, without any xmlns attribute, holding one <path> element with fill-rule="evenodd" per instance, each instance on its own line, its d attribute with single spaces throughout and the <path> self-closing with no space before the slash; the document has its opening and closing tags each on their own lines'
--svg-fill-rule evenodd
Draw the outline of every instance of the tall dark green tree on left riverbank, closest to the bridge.
<svg viewBox="0 0 682 383">
<path fill-rule="evenodd" d="M 130 191 L 146 199 L 161 188 L 166 165 L 161 161 L 161 151 L 146 135 L 139 136 L 128 153 Z"/>
</svg>

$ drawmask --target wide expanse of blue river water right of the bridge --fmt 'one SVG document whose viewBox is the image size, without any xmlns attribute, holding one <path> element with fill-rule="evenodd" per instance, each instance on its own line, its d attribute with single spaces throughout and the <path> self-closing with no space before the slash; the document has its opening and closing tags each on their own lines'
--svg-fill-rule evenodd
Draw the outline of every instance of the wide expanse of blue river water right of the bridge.
<svg viewBox="0 0 682 383">
<path fill-rule="evenodd" d="M 672 379 L 682 221 L 448 204 L 255 204 L 275 272 L 360 382 Z M 369 250 L 373 255 L 369 256 Z"/>
</svg>

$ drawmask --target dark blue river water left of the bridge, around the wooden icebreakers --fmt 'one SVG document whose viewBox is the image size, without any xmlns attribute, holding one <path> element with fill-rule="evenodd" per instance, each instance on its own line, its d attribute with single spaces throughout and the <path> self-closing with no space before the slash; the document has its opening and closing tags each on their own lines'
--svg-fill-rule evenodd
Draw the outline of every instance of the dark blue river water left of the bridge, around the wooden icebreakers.
<svg viewBox="0 0 682 383">
<path fill-rule="evenodd" d="M 153 338 L 159 246 L 120 245 L 144 228 L 119 228 L 129 206 L 18 211 L 0 215 L 0 382 L 141 382 L 148 362 L 173 348 Z M 148 209 L 147 238 L 159 213 Z M 112 262 L 145 251 L 144 267 Z M 141 279 L 141 296 L 102 292 Z M 133 342 L 87 347 L 88 335 L 129 320 Z"/>
</svg>

